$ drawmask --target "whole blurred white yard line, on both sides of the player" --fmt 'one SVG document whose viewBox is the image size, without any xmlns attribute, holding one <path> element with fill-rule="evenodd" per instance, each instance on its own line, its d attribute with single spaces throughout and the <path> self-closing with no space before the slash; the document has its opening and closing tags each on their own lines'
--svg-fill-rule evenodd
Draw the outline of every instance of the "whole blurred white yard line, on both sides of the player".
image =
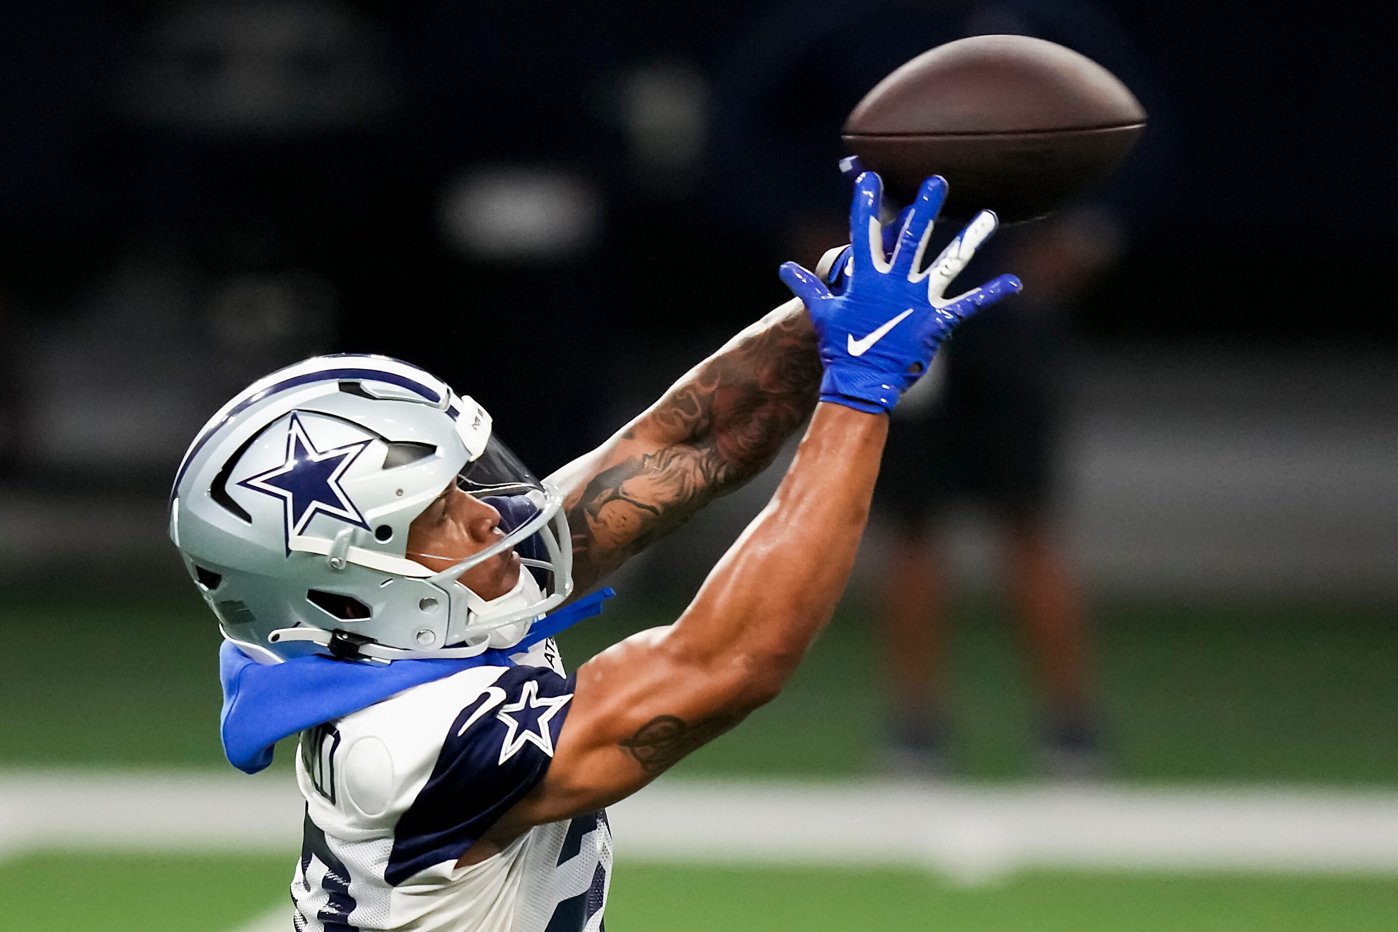
<svg viewBox="0 0 1398 932">
<path fill-rule="evenodd" d="M 301 850 L 285 774 L 0 774 L 0 855 Z M 1398 873 L 1398 794 L 661 781 L 611 809 L 624 859 Z"/>
</svg>

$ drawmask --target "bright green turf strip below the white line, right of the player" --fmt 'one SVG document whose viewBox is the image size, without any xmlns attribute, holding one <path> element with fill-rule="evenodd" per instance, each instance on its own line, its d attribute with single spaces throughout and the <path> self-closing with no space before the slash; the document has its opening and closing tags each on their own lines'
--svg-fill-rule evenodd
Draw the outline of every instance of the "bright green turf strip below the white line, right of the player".
<svg viewBox="0 0 1398 932">
<path fill-rule="evenodd" d="M 608 928 L 671 932 L 1369 932 L 1392 929 L 1398 882 L 1032 872 L 958 887 L 914 871 L 618 869 Z"/>
</svg>

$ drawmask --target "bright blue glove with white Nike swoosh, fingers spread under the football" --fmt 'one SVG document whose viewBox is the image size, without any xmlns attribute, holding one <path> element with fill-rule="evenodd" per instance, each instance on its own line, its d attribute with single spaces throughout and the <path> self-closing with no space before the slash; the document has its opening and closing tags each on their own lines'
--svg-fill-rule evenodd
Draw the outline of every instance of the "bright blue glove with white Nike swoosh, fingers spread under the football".
<svg viewBox="0 0 1398 932">
<path fill-rule="evenodd" d="M 847 261 L 840 257 L 849 284 L 840 295 L 830 293 L 819 277 L 795 263 L 784 263 L 780 271 L 815 326 L 825 366 L 821 401 L 870 414 L 893 409 L 958 323 L 1021 289 L 1018 278 L 1001 275 L 956 298 L 942 298 L 952 278 L 995 232 L 998 221 L 990 211 L 977 214 L 930 268 L 918 271 L 937 211 L 946 200 L 946 179 L 934 175 L 923 182 L 905 211 L 892 256 L 884 249 L 882 200 L 878 175 L 864 172 L 856 179 L 851 252 Z"/>
</svg>

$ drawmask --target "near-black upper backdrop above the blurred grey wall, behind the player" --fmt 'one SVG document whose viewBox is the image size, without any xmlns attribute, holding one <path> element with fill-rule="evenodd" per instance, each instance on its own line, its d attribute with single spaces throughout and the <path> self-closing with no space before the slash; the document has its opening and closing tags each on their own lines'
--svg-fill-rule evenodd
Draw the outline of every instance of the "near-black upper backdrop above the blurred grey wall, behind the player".
<svg viewBox="0 0 1398 932">
<path fill-rule="evenodd" d="M 11 3 L 0 463 L 159 485 L 249 379 L 352 349 L 439 370 L 547 472 L 784 298 L 791 229 L 840 231 L 843 115 L 948 31 L 1079 48 L 1155 117 L 1104 193 L 1125 249 L 1076 338 L 1392 347 L 1392 127 L 1360 15 Z"/>
</svg>

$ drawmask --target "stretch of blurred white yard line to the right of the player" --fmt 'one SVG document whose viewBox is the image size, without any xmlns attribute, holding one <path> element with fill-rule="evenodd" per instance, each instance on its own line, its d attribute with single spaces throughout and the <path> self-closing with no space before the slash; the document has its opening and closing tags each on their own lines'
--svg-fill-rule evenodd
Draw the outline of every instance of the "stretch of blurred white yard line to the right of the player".
<svg viewBox="0 0 1398 932">
<path fill-rule="evenodd" d="M 1398 796 L 1120 787 L 671 784 L 617 806 L 618 850 L 685 861 L 1398 872 Z"/>
</svg>

